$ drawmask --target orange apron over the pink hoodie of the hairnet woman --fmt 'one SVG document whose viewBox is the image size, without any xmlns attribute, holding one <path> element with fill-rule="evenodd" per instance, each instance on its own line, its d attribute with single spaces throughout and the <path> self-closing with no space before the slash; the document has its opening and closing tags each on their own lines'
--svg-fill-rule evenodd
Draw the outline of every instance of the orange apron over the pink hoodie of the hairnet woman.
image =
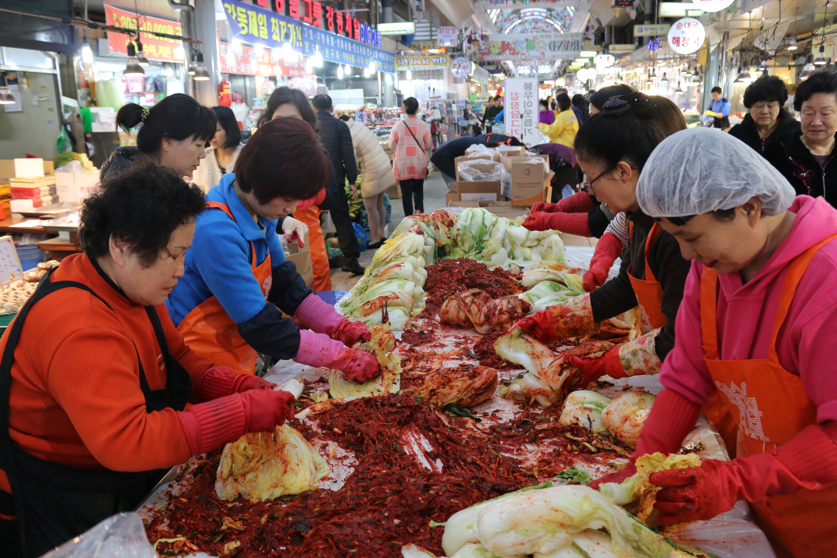
<svg viewBox="0 0 837 558">
<path fill-rule="evenodd" d="M 817 408 L 808 397 L 799 376 L 779 364 L 776 339 L 788 315 L 799 279 L 826 238 L 800 254 L 788 267 L 779 298 L 768 358 L 721 361 L 716 318 L 718 274 L 705 268 L 701 276 L 701 332 L 706 366 L 718 394 L 739 425 L 738 457 L 773 449 L 817 422 Z M 799 490 L 796 494 L 768 497 L 752 504 L 759 525 L 771 538 L 781 557 L 819 558 L 837 556 L 837 487 Z"/>
</svg>

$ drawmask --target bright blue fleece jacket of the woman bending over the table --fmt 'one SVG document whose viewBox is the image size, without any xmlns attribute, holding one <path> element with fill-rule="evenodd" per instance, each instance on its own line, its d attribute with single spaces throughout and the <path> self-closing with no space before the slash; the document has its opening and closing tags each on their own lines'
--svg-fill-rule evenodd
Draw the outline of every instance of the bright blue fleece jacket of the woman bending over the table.
<svg viewBox="0 0 837 558">
<path fill-rule="evenodd" d="M 227 204 L 235 221 L 216 207 L 204 210 L 195 219 L 195 237 L 186 253 L 186 273 L 166 301 L 175 325 L 213 295 L 236 324 L 252 320 L 264 309 L 264 294 L 250 263 L 250 241 L 257 265 L 268 253 L 271 268 L 285 262 L 276 221 L 259 217 L 264 230 L 259 228 L 236 195 L 234 181 L 234 173 L 223 175 L 218 186 L 207 192 L 207 201 Z"/>
</svg>

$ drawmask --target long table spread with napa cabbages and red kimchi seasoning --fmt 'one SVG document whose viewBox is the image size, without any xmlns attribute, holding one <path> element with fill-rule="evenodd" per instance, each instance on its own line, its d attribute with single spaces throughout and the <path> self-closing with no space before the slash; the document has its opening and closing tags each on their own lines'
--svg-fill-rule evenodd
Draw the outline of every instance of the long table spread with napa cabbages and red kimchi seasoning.
<svg viewBox="0 0 837 558">
<path fill-rule="evenodd" d="M 661 536 L 584 486 L 627 462 L 660 385 L 575 385 L 564 359 L 638 335 L 637 316 L 549 346 L 506 335 L 575 294 L 584 259 L 484 208 L 405 218 L 338 304 L 371 324 L 381 376 L 280 362 L 267 378 L 299 394 L 295 419 L 172 469 L 140 510 L 148 540 L 160 555 L 773 555 L 746 505 Z M 665 463 L 728 459 L 705 419 L 681 453 Z M 626 507 L 653 525 L 649 498 Z M 492 513 L 520 523 L 490 528 Z M 531 522 L 539 534 L 506 545 Z"/>
</svg>

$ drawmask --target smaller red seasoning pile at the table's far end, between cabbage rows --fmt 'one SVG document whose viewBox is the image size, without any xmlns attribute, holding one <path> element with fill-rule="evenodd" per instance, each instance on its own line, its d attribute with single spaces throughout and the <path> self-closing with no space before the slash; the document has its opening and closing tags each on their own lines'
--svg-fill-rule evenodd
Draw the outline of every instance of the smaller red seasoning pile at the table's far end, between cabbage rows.
<svg viewBox="0 0 837 558">
<path fill-rule="evenodd" d="M 427 281 L 424 282 L 427 305 L 419 317 L 436 317 L 445 299 L 468 289 L 482 289 L 492 299 L 524 290 L 521 282 L 506 269 L 498 267 L 489 270 L 485 264 L 473 259 L 443 259 L 427 268 Z"/>
</svg>

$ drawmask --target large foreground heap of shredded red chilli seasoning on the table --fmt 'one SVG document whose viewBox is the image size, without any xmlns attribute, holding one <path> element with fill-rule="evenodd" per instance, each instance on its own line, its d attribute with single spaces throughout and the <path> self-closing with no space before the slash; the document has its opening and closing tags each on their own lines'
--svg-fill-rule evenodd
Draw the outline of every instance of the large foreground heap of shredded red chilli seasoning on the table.
<svg viewBox="0 0 837 558">
<path fill-rule="evenodd" d="M 155 512 L 146 533 L 151 543 L 186 537 L 188 548 L 217 556 L 391 557 L 408 543 L 443 555 L 444 528 L 429 528 L 430 520 L 447 520 L 471 504 L 552 478 L 578 459 L 608 463 L 627 453 L 612 451 L 612 440 L 583 428 L 559 426 L 559 413 L 526 409 L 514 422 L 482 432 L 472 419 L 435 411 L 420 398 L 357 399 L 318 415 L 322 433 L 299 428 L 308 439 L 331 438 L 356 454 L 359 463 L 340 490 L 257 504 L 240 497 L 223 502 L 214 491 L 220 458 L 215 451 L 194 468 L 181 494 Z M 417 428 L 429 440 L 434 450 L 427 458 L 439 459 L 441 473 L 404 453 L 405 427 Z M 525 462 L 501 455 L 553 438 L 549 448 Z M 161 543 L 158 551 L 177 554 L 170 543 Z"/>
</svg>

